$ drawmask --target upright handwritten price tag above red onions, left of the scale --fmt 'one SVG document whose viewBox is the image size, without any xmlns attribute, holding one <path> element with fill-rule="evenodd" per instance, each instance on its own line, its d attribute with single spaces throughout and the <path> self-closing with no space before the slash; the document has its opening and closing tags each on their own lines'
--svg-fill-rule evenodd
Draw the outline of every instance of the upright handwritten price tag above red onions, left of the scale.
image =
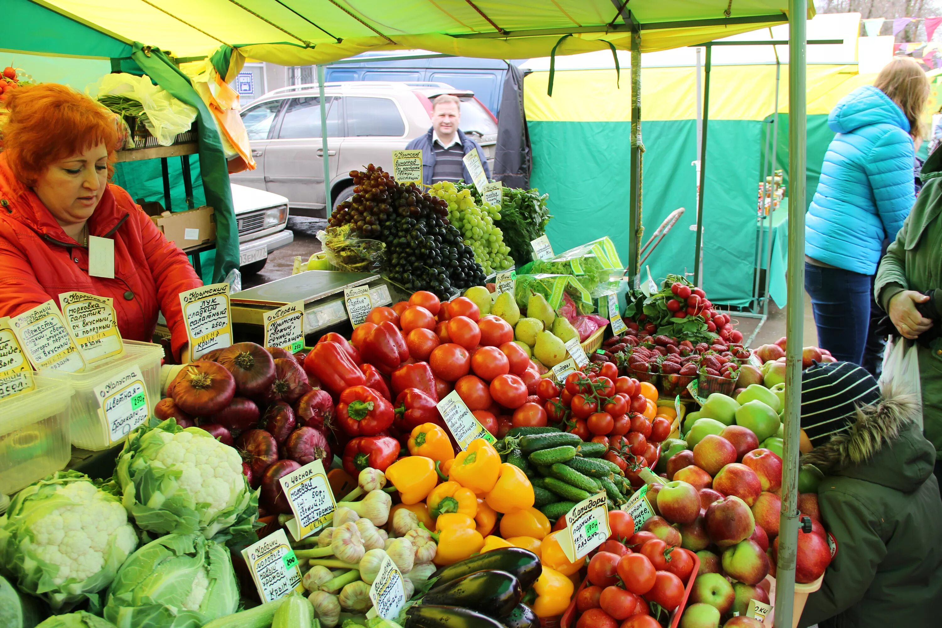
<svg viewBox="0 0 942 628">
<path fill-rule="evenodd" d="M 233 344 L 228 283 L 210 283 L 181 292 L 180 305 L 187 323 L 193 360 L 213 349 L 224 349 Z"/>
</svg>

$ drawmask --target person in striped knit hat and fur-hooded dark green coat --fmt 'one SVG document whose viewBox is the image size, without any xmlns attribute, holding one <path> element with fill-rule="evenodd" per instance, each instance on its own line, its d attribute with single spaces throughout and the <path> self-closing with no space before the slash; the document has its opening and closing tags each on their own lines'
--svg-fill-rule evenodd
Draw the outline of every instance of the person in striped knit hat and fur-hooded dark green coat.
<svg viewBox="0 0 942 628">
<path fill-rule="evenodd" d="M 891 386 L 891 384 L 890 384 Z M 850 362 L 802 375 L 803 463 L 824 474 L 818 503 L 836 554 L 798 625 L 938 626 L 942 500 L 918 399 L 879 390 Z"/>
</svg>

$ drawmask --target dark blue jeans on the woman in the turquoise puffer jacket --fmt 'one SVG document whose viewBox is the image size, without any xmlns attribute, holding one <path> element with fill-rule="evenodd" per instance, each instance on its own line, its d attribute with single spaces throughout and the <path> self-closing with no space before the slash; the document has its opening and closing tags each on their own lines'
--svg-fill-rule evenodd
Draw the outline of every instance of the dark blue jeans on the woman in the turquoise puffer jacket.
<svg viewBox="0 0 942 628">
<path fill-rule="evenodd" d="M 863 361 L 872 281 L 871 275 L 804 263 L 804 289 L 811 297 L 818 342 L 838 362 Z"/>
</svg>

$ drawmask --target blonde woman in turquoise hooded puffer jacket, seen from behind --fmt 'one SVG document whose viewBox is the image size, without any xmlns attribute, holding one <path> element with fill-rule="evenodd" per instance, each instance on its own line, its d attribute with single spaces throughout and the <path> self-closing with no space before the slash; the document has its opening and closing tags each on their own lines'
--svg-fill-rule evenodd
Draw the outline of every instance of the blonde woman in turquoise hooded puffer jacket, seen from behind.
<svg viewBox="0 0 942 628">
<path fill-rule="evenodd" d="M 896 237 L 915 201 L 913 139 L 923 136 L 928 98 L 918 63 L 896 57 L 828 117 L 837 135 L 805 218 L 804 289 L 818 342 L 839 362 L 863 360 L 883 243 Z"/>
</svg>

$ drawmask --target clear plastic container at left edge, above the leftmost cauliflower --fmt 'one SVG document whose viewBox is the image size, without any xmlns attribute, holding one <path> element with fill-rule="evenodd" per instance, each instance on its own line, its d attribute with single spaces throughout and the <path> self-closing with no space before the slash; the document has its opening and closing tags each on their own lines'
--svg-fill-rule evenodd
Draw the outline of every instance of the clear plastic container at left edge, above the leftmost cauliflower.
<svg viewBox="0 0 942 628">
<path fill-rule="evenodd" d="M 64 469 L 73 391 L 62 381 L 35 376 L 36 390 L 0 400 L 0 493 L 19 491 Z"/>
</svg>

